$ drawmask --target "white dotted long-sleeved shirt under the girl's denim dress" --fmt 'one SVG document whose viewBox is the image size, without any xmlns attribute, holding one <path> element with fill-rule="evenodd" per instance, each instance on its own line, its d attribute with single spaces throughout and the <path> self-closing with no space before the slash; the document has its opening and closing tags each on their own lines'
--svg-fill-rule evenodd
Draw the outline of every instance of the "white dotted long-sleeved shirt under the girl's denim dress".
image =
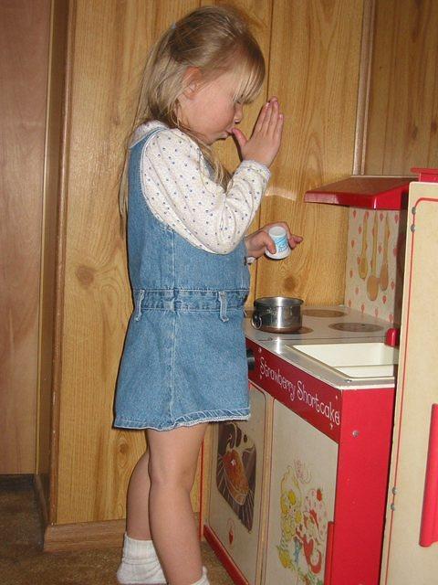
<svg viewBox="0 0 438 585">
<path fill-rule="evenodd" d="M 141 156 L 141 187 L 151 212 L 193 246 L 216 254 L 235 249 L 266 191 L 269 170 L 243 161 L 226 189 L 210 178 L 209 167 L 193 140 L 162 122 L 147 122 L 132 143 L 157 127 Z"/>
</svg>

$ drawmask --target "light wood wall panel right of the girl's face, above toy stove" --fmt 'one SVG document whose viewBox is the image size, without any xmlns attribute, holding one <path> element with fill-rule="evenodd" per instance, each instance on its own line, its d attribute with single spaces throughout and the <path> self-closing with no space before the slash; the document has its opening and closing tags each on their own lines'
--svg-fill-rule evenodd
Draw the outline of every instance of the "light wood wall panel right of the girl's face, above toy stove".
<svg viewBox="0 0 438 585">
<path fill-rule="evenodd" d="M 268 93 L 282 103 L 285 137 L 260 223 L 285 220 L 304 241 L 285 261 L 259 261 L 256 296 L 341 303 L 347 210 L 303 196 L 352 172 L 362 2 L 276 0 L 273 8 Z"/>
</svg>

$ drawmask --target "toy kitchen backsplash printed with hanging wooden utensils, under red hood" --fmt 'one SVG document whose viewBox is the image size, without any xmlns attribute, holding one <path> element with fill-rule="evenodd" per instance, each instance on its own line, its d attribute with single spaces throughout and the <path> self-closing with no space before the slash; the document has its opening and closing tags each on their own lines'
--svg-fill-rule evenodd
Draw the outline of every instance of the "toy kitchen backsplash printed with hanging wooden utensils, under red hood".
<svg viewBox="0 0 438 585">
<path fill-rule="evenodd" d="M 350 208 L 344 303 L 401 322 L 406 210 Z"/>
</svg>

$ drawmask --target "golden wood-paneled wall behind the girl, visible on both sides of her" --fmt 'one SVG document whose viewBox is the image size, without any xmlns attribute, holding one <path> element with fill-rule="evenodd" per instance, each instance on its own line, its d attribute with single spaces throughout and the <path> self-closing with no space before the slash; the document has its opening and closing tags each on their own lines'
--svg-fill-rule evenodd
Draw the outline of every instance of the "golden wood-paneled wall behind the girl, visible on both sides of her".
<svg viewBox="0 0 438 585">
<path fill-rule="evenodd" d="M 285 262 L 262 259 L 253 282 L 257 293 L 292 293 L 308 303 L 342 300 L 347 214 L 337 207 L 304 205 L 302 195 L 307 186 L 348 175 L 354 151 L 361 5 L 329 4 L 237 3 L 255 16 L 269 71 L 260 98 L 246 109 L 244 131 L 250 133 L 270 95 L 278 96 L 287 116 L 271 189 L 292 192 L 295 200 L 266 199 L 261 223 L 285 219 L 306 239 Z M 52 509 L 59 524 L 123 517 L 130 471 L 144 449 L 141 432 L 110 428 L 131 310 L 117 179 L 147 49 L 196 5 L 114 1 L 91 6 L 80 0 L 72 5 L 62 379 Z M 290 53 L 287 75 L 285 52 Z M 338 67 L 343 59 L 347 74 Z M 235 166 L 235 145 L 228 141 L 221 150 L 225 162 Z"/>
</svg>

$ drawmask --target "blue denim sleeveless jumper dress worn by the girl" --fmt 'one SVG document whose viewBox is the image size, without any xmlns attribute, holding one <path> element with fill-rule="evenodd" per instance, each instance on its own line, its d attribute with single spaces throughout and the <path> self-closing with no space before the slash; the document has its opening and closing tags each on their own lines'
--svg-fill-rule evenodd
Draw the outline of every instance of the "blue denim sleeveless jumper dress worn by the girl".
<svg viewBox="0 0 438 585">
<path fill-rule="evenodd" d="M 141 154 L 161 130 L 130 149 L 134 311 L 120 362 L 114 426 L 167 431 L 211 420 L 245 420 L 245 243 L 229 254 L 210 253 L 151 213 L 141 190 Z"/>
</svg>

